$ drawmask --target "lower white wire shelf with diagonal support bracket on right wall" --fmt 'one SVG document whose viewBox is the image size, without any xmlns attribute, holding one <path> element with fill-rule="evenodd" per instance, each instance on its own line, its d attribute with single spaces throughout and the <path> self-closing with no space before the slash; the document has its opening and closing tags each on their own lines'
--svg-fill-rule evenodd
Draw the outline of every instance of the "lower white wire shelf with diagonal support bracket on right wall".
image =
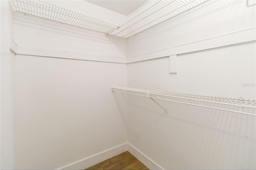
<svg viewBox="0 0 256 170">
<path fill-rule="evenodd" d="M 112 88 L 111 90 L 113 92 L 148 97 L 151 98 L 155 103 L 157 102 L 154 99 L 159 99 L 198 107 L 206 107 L 210 109 L 217 109 L 233 113 L 241 113 L 245 115 L 256 116 L 256 100 L 251 99 L 233 99 L 228 97 L 191 95 L 146 89 L 135 89 L 130 87 Z M 167 111 L 161 105 L 159 106 L 167 113 Z"/>
</svg>

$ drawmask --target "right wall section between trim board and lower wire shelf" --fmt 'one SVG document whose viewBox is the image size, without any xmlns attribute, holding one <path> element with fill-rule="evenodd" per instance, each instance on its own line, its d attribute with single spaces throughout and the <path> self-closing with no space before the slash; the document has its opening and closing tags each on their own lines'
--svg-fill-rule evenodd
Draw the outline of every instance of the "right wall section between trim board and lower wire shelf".
<svg viewBox="0 0 256 170">
<path fill-rule="evenodd" d="M 179 93 L 255 99 L 255 42 L 178 55 L 178 73 L 169 57 L 128 64 L 128 86 Z"/>
</svg>

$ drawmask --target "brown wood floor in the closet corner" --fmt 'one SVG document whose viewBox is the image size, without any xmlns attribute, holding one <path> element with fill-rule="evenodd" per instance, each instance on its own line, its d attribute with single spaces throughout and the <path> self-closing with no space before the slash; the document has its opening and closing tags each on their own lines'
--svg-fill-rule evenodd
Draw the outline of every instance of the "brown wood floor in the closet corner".
<svg viewBox="0 0 256 170">
<path fill-rule="evenodd" d="M 114 156 L 108 160 L 100 162 L 86 170 L 149 170 L 130 152 L 126 151 L 122 154 Z"/>
</svg>

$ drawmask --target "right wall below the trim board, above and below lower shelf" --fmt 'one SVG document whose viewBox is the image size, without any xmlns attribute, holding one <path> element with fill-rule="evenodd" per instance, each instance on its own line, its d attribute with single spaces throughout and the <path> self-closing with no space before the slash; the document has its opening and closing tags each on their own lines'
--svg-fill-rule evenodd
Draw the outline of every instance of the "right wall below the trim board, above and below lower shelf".
<svg viewBox="0 0 256 170">
<path fill-rule="evenodd" d="M 128 87 L 256 99 L 256 44 L 128 64 Z M 245 86 L 248 84 L 250 86 Z M 120 99 L 122 100 L 122 96 Z M 255 117 L 128 96 L 128 142 L 164 169 L 255 169 Z"/>
</svg>

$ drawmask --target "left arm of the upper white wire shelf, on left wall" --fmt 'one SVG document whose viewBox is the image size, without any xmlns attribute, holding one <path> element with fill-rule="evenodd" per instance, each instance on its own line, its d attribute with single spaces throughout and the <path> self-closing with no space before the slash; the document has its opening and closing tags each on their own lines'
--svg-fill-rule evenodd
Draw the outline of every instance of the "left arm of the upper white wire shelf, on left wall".
<svg viewBox="0 0 256 170">
<path fill-rule="evenodd" d="M 98 20 L 42 0 L 13 0 L 13 4 L 14 10 L 18 12 L 53 20 L 62 24 L 68 24 L 105 34 L 118 29 L 118 26 L 115 24 Z"/>
</svg>

